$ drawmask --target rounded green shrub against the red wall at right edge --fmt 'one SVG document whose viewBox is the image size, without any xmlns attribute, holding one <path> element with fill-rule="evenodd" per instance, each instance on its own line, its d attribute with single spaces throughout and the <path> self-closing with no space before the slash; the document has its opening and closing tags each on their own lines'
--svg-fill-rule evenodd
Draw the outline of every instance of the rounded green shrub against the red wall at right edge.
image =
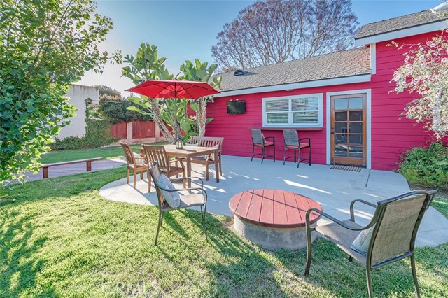
<svg viewBox="0 0 448 298">
<path fill-rule="evenodd" d="M 430 143 L 428 148 L 412 148 L 402 155 L 398 166 L 410 183 L 448 187 L 448 146 L 442 142 Z"/>
</svg>

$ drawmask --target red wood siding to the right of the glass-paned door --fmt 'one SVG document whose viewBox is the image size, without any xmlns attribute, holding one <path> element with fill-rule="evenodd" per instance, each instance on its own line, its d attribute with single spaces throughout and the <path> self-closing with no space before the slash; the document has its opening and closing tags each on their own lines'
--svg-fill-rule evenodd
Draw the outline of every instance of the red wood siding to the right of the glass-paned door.
<svg viewBox="0 0 448 298">
<path fill-rule="evenodd" d="M 419 34 L 395 40 L 400 44 L 426 43 L 436 32 Z M 424 146 L 433 141 L 430 133 L 421 125 L 402 118 L 407 102 L 416 98 L 415 94 L 403 92 L 389 93 L 393 90 L 390 80 L 393 72 L 404 62 L 403 54 L 409 48 L 398 50 L 387 46 L 390 41 L 377 43 L 377 73 L 372 76 L 372 169 L 393 170 L 397 168 L 400 155 L 413 146 Z"/>
</svg>

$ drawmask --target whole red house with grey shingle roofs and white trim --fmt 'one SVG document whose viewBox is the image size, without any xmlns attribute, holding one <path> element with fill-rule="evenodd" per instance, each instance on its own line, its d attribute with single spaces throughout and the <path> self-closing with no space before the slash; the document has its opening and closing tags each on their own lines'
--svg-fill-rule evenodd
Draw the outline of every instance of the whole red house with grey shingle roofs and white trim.
<svg viewBox="0 0 448 298">
<path fill-rule="evenodd" d="M 425 43 L 444 27 L 426 10 L 364 25 L 352 50 L 224 73 L 223 92 L 207 106 L 214 117 L 207 135 L 225 138 L 223 154 L 251 157 L 250 129 L 260 128 L 274 136 L 276 159 L 283 160 L 282 129 L 297 129 L 311 138 L 314 164 L 395 169 L 402 152 L 433 138 L 400 120 L 415 95 L 390 92 L 407 49 L 387 45 Z M 246 101 L 246 113 L 228 114 L 227 102 L 237 100 Z"/>
</svg>

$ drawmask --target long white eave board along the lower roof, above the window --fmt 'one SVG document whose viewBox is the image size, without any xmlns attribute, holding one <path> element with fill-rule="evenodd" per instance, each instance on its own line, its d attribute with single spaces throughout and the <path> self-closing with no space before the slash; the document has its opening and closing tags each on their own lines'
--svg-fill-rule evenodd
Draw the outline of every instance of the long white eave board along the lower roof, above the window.
<svg viewBox="0 0 448 298">
<path fill-rule="evenodd" d="M 220 94 L 215 94 L 214 97 L 230 97 L 230 96 L 235 96 L 235 95 L 254 94 L 254 93 L 262 93 L 262 92 L 274 92 L 274 91 L 282 91 L 282 90 L 289 91 L 289 90 L 294 90 L 294 89 L 303 89 L 303 88 L 311 88 L 311 87 L 323 87 L 323 86 L 330 86 L 330 85 L 363 83 L 363 82 L 370 82 L 370 80 L 371 80 L 371 73 L 363 73 L 363 74 L 358 74 L 358 75 L 353 75 L 353 76 L 342 76 L 342 77 L 338 77 L 338 78 L 325 78 L 322 80 L 308 80 L 305 82 L 229 90 L 229 91 L 223 91 Z"/>
</svg>

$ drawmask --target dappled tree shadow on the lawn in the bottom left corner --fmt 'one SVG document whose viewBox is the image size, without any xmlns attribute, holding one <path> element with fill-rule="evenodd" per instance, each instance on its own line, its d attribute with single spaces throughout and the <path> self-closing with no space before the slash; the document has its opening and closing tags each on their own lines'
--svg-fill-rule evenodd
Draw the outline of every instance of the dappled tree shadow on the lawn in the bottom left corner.
<svg viewBox="0 0 448 298">
<path fill-rule="evenodd" d="M 18 297 L 36 286 L 36 276 L 45 260 L 36 258 L 35 254 L 47 239 L 34 239 L 34 227 L 27 222 L 27 218 L 18 213 L 5 212 L 6 216 L 0 224 L 0 296 Z M 10 222 L 7 223 L 6 218 Z M 57 296 L 52 289 L 43 290 L 38 295 Z"/>
</svg>

